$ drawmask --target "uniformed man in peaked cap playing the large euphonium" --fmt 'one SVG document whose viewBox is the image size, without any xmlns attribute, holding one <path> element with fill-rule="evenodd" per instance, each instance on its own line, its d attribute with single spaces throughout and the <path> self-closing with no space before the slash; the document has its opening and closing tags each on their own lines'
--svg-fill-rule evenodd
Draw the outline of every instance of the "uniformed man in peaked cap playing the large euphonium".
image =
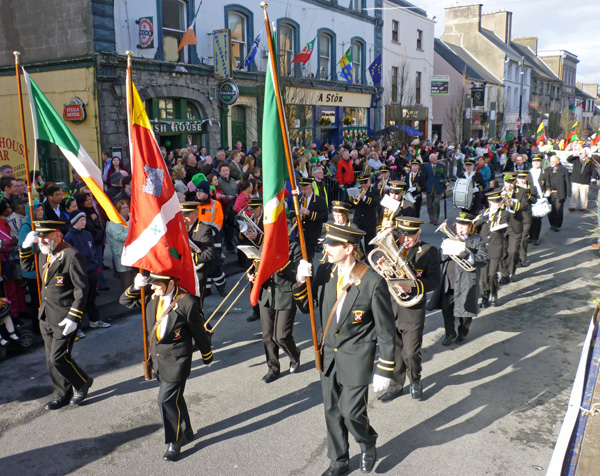
<svg viewBox="0 0 600 476">
<path fill-rule="evenodd" d="M 438 250 L 421 241 L 421 225 L 423 223 L 424 220 L 420 218 L 396 218 L 397 244 L 407 253 L 406 263 L 415 274 L 417 282 L 414 287 L 397 284 L 395 292 L 402 293 L 400 296 L 406 296 L 407 304 L 417 295 L 421 295 L 421 300 L 404 307 L 400 306 L 395 299 L 392 300 L 396 319 L 394 355 L 396 365 L 390 388 L 379 397 L 379 400 L 384 403 L 391 402 L 402 395 L 407 373 L 412 398 L 420 400 L 423 395 L 421 347 L 425 328 L 425 294 L 437 289 L 442 279 Z"/>
</svg>

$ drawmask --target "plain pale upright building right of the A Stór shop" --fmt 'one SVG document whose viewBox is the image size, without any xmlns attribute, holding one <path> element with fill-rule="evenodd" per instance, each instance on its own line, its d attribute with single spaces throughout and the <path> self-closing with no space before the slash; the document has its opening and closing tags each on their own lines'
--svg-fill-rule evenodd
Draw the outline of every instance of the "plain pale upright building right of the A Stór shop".
<svg viewBox="0 0 600 476">
<path fill-rule="evenodd" d="M 403 0 L 383 3 L 385 124 L 408 125 L 431 138 L 435 22 Z"/>
</svg>

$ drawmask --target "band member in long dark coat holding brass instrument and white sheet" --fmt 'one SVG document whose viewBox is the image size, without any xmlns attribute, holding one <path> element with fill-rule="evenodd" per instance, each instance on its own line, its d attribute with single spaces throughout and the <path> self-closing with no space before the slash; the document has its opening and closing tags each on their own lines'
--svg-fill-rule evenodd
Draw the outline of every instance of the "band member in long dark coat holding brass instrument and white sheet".
<svg viewBox="0 0 600 476">
<path fill-rule="evenodd" d="M 461 212 L 455 227 L 457 239 L 446 238 L 442 242 L 442 283 L 427 305 L 429 311 L 442 310 L 446 328 L 442 345 L 450 345 L 454 339 L 457 344 L 466 340 L 471 321 L 479 310 L 479 270 L 489 262 L 483 238 L 473 233 L 473 215 Z M 473 271 L 463 269 L 452 256 L 464 260 Z"/>
</svg>

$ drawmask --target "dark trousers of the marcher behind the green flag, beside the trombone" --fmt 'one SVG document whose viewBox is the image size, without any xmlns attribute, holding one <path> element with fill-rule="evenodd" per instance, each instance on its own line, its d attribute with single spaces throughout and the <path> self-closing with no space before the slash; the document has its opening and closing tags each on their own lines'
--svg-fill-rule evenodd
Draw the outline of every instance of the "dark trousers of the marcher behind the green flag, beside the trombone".
<svg viewBox="0 0 600 476">
<path fill-rule="evenodd" d="M 290 365 L 298 362 L 300 351 L 294 341 L 294 309 L 271 309 L 260 305 L 260 323 L 263 331 L 263 345 L 267 357 L 267 367 L 279 373 L 279 348 L 290 358 Z"/>
</svg>

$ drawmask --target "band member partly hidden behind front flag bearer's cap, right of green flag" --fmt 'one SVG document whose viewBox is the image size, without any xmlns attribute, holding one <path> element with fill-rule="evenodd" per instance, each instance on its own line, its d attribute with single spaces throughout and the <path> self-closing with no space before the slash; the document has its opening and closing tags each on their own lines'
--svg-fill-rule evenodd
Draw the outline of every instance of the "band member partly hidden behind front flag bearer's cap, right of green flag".
<svg viewBox="0 0 600 476">
<path fill-rule="evenodd" d="M 323 224 L 327 223 L 329 219 L 327 202 L 323 197 L 319 197 L 314 193 L 312 183 L 312 177 L 298 179 L 298 185 L 302 193 L 300 215 L 302 216 L 302 229 L 304 230 L 306 254 L 309 262 L 312 262 L 315 257 L 319 238 L 323 232 Z"/>
</svg>

